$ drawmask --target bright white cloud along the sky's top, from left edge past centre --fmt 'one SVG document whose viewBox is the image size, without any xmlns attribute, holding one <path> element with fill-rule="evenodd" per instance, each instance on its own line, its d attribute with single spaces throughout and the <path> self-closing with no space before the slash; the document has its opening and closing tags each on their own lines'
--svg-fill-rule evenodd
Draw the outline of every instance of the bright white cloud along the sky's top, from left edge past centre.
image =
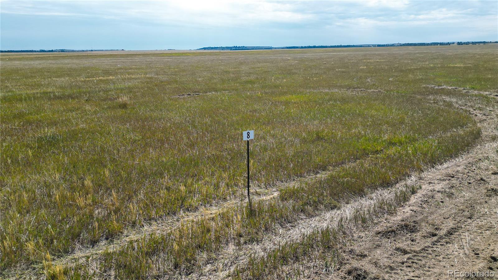
<svg viewBox="0 0 498 280">
<path fill-rule="evenodd" d="M 76 12 L 77 11 L 77 12 Z M 293 5 L 266 1 L 2 1 L 2 13 L 140 19 L 161 23 L 248 25 L 314 18 Z"/>
</svg>

